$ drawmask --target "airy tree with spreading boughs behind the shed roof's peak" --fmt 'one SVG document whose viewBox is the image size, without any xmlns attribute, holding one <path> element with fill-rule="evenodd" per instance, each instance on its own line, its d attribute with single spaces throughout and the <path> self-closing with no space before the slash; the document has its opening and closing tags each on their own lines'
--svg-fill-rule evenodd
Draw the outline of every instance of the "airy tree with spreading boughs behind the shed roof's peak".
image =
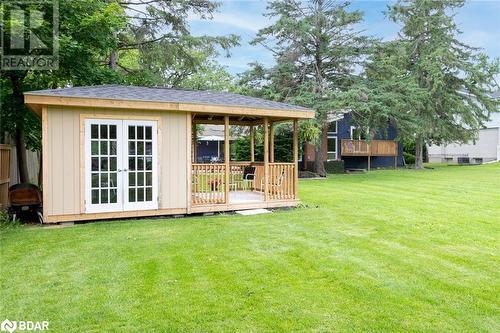
<svg viewBox="0 0 500 333">
<path fill-rule="evenodd" d="M 134 83 L 179 87 L 194 75 L 222 74 L 213 59 L 226 55 L 239 37 L 193 36 L 188 15 L 211 19 L 219 3 L 211 0 L 125 0 L 118 2 L 127 13 L 126 28 L 115 34 L 116 48 L 107 63 L 134 77 Z M 122 61 L 122 59 L 124 61 Z"/>
</svg>

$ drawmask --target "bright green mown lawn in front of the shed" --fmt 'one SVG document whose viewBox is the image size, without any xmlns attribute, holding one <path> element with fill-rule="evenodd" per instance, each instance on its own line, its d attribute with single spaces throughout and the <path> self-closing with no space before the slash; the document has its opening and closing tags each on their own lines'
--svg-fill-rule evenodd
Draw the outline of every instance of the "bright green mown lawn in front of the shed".
<svg viewBox="0 0 500 333">
<path fill-rule="evenodd" d="M 300 183 L 308 207 L 0 230 L 0 320 L 52 332 L 500 331 L 500 164 Z"/>
</svg>

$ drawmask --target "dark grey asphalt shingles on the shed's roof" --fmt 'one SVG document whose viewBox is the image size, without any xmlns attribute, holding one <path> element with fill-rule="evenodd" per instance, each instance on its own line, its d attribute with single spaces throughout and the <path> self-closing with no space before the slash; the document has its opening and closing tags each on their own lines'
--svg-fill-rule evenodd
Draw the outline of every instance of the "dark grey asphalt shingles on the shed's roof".
<svg viewBox="0 0 500 333">
<path fill-rule="evenodd" d="M 103 98 L 145 102 L 194 103 L 222 106 L 242 106 L 250 108 L 311 111 L 310 109 L 269 101 L 261 98 L 243 96 L 229 92 L 189 90 L 163 87 L 138 87 L 122 85 L 101 85 L 71 87 L 27 92 L 28 95 Z"/>
</svg>

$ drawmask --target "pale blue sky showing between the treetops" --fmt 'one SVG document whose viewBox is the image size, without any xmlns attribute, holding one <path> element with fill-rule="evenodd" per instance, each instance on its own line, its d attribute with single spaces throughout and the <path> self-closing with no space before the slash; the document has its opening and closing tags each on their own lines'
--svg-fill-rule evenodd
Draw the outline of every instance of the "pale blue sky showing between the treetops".
<svg viewBox="0 0 500 333">
<path fill-rule="evenodd" d="M 272 66 L 274 60 L 264 47 L 249 45 L 259 29 L 271 21 L 263 14 L 267 1 L 261 0 L 219 0 L 221 7 L 211 21 L 190 18 L 194 35 L 221 36 L 236 34 L 241 37 L 241 45 L 231 50 L 229 58 L 220 56 L 219 63 L 232 74 L 249 68 L 251 62 Z M 360 29 L 384 40 L 397 36 L 400 27 L 389 21 L 384 11 L 392 1 L 354 0 L 351 8 L 364 13 Z M 463 34 L 460 39 L 468 45 L 480 47 L 490 57 L 500 58 L 500 0 L 469 0 L 456 13 L 455 22 Z"/>
</svg>

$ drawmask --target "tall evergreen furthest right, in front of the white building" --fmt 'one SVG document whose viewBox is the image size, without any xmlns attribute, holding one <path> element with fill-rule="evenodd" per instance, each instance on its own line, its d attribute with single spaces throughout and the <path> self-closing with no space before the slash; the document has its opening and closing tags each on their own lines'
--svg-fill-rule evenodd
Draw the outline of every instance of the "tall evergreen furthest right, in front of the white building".
<svg viewBox="0 0 500 333">
<path fill-rule="evenodd" d="M 499 61 L 462 43 L 453 12 L 463 0 L 399 0 L 389 17 L 402 24 L 406 60 L 402 70 L 424 91 L 413 99 L 409 117 L 416 141 L 415 167 L 423 168 L 424 145 L 472 140 L 496 112 Z M 411 98 L 411 96 L 409 96 Z M 405 128 L 399 124 L 399 128 Z"/>
</svg>

